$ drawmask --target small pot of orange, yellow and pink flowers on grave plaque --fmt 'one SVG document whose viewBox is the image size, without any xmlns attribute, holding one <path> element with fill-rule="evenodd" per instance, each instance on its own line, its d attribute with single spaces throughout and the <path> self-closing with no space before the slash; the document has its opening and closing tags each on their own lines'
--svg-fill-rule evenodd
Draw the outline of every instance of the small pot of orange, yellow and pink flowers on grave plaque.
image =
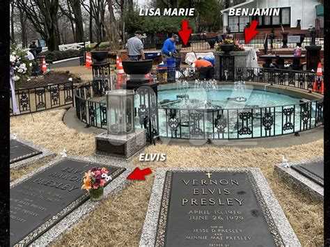
<svg viewBox="0 0 330 247">
<path fill-rule="evenodd" d="M 91 200 L 97 201 L 103 199 L 103 187 L 106 182 L 111 180 L 106 168 L 94 167 L 85 173 L 84 184 L 81 189 L 88 191 Z"/>
</svg>

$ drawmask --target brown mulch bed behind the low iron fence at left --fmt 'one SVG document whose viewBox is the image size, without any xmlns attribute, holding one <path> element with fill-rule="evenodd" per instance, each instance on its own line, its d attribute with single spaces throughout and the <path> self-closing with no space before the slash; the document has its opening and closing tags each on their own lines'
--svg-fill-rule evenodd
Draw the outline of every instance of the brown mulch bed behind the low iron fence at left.
<svg viewBox="0 0 330 247">
<path fill-rule="evenodd" d="M 29 81 L 22 81 L 19 88 L 35 88 L 48 86 L 49 84 L 68 82 L 68 79 L 72 78 L 72 81 L 78 82 L 77 77 L 70 72 L 48 72 L 38 77 L 30 77 Z"/>
</svg>

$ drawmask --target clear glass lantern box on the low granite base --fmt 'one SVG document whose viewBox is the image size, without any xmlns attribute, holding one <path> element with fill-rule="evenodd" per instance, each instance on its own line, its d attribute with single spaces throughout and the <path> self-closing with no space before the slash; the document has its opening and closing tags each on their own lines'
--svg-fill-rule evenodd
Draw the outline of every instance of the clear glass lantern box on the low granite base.
<svg viewBox="0 0 330 247">
<path fill-rule="evenodd" d="M 107 92 L 108 134 L 125 135 L 134 132 L 134 91 Z"/>
</svg>

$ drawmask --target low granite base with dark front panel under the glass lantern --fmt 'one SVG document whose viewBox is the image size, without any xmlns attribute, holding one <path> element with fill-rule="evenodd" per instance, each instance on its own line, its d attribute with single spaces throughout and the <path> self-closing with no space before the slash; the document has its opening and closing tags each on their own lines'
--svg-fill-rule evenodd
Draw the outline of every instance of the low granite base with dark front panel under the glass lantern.
<svg viewBox="0 0 330 247">
<path fill-rule="evenodd" d="M 146 145 L 146 129 L 135 129 L 127 135 L 111 135 L 107 132 L 95 136 L 95 153 L 129 158 Z"/>
</svg>

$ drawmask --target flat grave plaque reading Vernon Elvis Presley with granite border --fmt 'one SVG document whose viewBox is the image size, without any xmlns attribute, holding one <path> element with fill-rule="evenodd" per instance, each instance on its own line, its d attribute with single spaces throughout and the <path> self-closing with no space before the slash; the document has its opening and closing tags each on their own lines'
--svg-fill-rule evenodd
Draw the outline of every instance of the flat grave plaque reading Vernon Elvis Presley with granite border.
<svg viewBox="0 0 330 247">
<path fill-rule="evenodd" d="M 288 242 L 264 197 L 278 202 L 269 191 L 262 194 L 259 185 L 267 187 L 267 182 L 258 184 L 250 170 L 166 171 L 159 214 L 151 212 L 150 207 L 157 207 L 152 196 L 140 246 L 153 246 L 152 241 L 167 247 L 285 246 Z M 274 210 L 278 210 L 278 218 L 284 218 L 281 228 L 290 225 L 278 204 Z M 155 239 L 143 240 L 152 232 L 150 218 L 155 215 Z M 295 246 L 300 246 L 292 229 L 288 232 Z"/>
</svg>

